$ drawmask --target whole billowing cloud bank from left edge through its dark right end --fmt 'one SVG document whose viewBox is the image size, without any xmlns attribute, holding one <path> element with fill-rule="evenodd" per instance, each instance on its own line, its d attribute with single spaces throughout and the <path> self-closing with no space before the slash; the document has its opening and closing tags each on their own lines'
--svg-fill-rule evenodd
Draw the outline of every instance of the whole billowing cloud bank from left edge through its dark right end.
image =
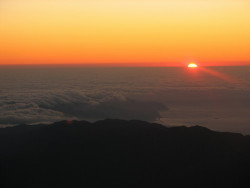
<svg viewBox="0 0 250 188">
<path fill-rule="evenodd" d="M 21 102 L 0 104 L 0 124 L 54 122 L 64 119 L 100 120 L 105 118 L 155 121 L 167 107 L 157 101 L 132 99 L 121 95 L 86 95 L 63 92 L 24 98 Z"/>
</svg>

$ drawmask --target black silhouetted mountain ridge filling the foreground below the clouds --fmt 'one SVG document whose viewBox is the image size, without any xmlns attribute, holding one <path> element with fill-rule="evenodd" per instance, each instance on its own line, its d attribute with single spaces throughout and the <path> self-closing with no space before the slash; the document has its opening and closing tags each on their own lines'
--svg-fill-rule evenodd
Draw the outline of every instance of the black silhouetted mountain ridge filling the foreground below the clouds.
<svg viewBox="0 0 250 188">
<path fill-rule="evenodd" d="M 0 129 L 1 187 L 250 187 L 250 137 L 142 121 Z"/>
</svg>

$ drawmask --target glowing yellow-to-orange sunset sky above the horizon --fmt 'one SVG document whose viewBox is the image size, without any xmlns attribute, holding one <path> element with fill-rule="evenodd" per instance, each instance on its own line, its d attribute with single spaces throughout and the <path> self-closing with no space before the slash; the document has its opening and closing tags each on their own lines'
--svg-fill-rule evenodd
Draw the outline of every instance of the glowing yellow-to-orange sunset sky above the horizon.
<svg viewBox="0 0 250 188">
<path fill-rule="evenodd" d="M 250 65 L 249 0 L 1 0 L 0 64 Z"/>
</svg>

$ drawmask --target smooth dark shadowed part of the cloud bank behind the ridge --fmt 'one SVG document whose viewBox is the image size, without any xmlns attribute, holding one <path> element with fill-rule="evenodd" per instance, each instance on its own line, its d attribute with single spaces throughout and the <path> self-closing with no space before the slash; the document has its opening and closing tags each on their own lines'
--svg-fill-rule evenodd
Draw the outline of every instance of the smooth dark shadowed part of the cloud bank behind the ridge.
<svg viewBox="0 0 250 188">
<path fill-rule="evenodd" d="M 160 117 L 159 112 L 167 110 L 164 104 L 154 101 L 139 101 L 130 98 L 112 98 L 107 101 L 90 104 L 84 101 L 55 100 L 39 107 L 64 113 L 66 116 L 80 119 L 140 119 L 153 121 Z"/>
</svg>

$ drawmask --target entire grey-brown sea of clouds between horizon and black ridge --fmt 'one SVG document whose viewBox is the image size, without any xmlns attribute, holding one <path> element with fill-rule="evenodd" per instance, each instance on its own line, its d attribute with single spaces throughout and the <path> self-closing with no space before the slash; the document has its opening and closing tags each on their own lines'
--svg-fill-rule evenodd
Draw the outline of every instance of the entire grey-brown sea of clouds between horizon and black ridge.
<svg viewBox="0 0 250 188">
<path fill-rule="evenodd" d="M 2 68 L 0 126 L 117 118 L 250 133 L 250 69 L 217 69 L 238 81 L 181 68 Z"/>
</svg>

